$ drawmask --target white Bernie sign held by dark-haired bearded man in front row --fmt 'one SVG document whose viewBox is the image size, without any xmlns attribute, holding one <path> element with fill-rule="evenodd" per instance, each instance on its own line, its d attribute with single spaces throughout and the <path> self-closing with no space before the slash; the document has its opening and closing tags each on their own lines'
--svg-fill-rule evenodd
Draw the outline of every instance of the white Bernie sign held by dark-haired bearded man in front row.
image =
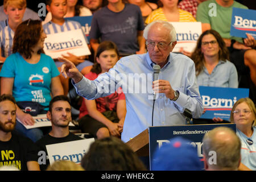
<svg viewBox="0 0 256 182">
<path fill-rule="evenodd" d="M 57 144 L 48 144 L 46 150 L 49 163 L 52 165 L 57 160 L 70 160 L 80 164 L 82 157 L 88 152 L 90 144 L 94 138 L 76 140 L 72 142 L 63 142 Z"/>
</svg>

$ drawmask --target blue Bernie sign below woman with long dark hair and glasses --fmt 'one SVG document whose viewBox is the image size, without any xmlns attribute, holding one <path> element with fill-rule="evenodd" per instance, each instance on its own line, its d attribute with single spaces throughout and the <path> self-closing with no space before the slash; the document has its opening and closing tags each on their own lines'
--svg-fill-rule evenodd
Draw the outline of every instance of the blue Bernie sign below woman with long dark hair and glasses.
<svg viewBox="0 0 256 182">
<path fill-rule="evenodd" d="M 240 98 L 249 97 L 249 89 L 199 86 L 205 113 L 200 118 L 229 121 L 230 111 Z"/>
</svg>

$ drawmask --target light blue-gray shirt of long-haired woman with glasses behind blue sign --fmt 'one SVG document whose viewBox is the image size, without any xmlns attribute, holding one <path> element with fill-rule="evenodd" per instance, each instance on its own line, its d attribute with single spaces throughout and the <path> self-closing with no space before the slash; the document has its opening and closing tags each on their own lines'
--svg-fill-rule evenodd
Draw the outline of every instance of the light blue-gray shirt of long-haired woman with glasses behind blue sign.
<svg viewBox="0 0 256 182">
<path fill-rule="evenodd" d="M 220 60 L 211 74 L 204 67 L 197 76 L 197 83 L 199 86 L 238 88 L 237 69 L 230 61 Z"/>
</svg>

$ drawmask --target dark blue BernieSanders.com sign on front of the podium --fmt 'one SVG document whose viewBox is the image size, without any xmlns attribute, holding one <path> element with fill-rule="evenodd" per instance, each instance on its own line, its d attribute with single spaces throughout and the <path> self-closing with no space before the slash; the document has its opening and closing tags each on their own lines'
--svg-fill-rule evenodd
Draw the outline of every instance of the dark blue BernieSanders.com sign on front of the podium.
<svg viewBox="0 0 256 182">
<path fill-rule="evenodd" d="M 197 155 L 202 162 L 203 159 L 203 137 L 204 134 L 216 127 L 229 127 L 236 132 L 236 124 L 213 124 L 213 125 L 182 125 L 182 126 L 153 126 L 149 127 L 149 149 L 150 149 L 150 169 L 152 169 L 152 161 L 154 160 L 155 151 L 162 145 L 169 143 L 170 139 L 175 137 L 183 137 L 191 141 L 191 144 L 197 148 Z M 168 160 L 168 159 L 166 159 Z"/>
</svg>

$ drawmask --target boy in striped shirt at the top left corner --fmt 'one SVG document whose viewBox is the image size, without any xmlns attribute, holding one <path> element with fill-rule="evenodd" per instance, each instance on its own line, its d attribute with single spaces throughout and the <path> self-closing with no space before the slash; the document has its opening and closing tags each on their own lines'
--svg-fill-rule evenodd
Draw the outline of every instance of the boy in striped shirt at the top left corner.
<svg viewBox="0 0 256 182">
<path fill-rule="evenodd" d="M 13 49 L 13 37 L 16 28 L 22 23 L 26 10 L 26 0 L 4 0 L 3 11 L 8 19 L 0 22 L 0 61 L 5 62 Z"/>
</svg>

